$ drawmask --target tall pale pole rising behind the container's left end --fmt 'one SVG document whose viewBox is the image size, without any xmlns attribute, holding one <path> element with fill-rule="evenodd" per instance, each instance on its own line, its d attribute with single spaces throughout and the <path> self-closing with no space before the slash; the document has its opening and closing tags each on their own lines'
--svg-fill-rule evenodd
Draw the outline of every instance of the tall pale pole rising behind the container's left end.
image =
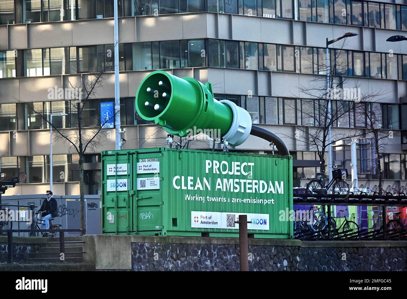
<svg viewBox="0 0 407 299">
<path fill-rule="evenodd" d="M 118 31 L 118 5 L 114 0 L 114 125 L 116 129 L 116 150 L 120 149 L 120 90 L 119 90 L 119 31 Z"/>
</svg>

